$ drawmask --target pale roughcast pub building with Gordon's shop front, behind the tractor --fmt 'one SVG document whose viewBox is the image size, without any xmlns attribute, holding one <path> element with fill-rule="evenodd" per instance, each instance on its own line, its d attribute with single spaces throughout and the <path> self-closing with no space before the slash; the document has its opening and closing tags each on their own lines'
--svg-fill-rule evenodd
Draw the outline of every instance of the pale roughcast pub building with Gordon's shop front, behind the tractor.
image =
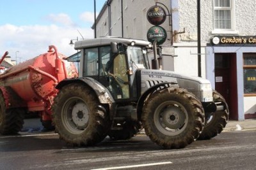
<svg viewBox="0 0 256 170">
<path fill-rule="evenodd" d="M 147 39 L 153 25 L 147 20 L 151 6 L 170 11 L 161 24 L 167 32 L 163 69 L 201 76 L 226 99 L 230 119 L 256 118 L 256 1 L 200 1 L 198 53 L 198 1 L 108 0 L 96 20 L 96 36 Z M 169 22 L 170 21 L 170 22 Z M 198 57 L 201 64 L 198 66 Z M 198 69 L 200 67 L 200 69 Z"/>
</svg>

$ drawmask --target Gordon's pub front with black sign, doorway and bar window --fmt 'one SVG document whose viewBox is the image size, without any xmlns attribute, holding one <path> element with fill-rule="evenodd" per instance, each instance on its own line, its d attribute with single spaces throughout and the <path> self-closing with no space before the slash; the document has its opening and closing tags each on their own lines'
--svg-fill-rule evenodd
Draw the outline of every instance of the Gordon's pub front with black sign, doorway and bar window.
<svg viewBox="0 0 256 170">
<path fill-rule="evenodd" d="M 214 36 L 205 52 L 206 77 L 225 97 L 230 120 L 256 118 L 256 36 Z"/>
</svg>

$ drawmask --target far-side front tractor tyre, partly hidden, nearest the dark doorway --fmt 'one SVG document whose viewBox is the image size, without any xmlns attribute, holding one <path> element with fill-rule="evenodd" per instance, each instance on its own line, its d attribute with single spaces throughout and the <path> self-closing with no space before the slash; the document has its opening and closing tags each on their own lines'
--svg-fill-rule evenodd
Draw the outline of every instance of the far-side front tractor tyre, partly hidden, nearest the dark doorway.
<svg viewBox="0 0 256 170">
<path fill-rule="evenodd" d="M 211 116 L 208 118 L 208 120 L 205 120 L 204 130 L 198 138 L 200 140 L 214 138 L 215 136 L 220 134 L 227 125 L 229 111 L 228 105 L 224 97 L 215 90 L 212 92 L 212 96 L 214 102 L 225 103 L 226 109 L 223 111 L 216 111 L 214 113 L 210 113 Z"/>
</svg>

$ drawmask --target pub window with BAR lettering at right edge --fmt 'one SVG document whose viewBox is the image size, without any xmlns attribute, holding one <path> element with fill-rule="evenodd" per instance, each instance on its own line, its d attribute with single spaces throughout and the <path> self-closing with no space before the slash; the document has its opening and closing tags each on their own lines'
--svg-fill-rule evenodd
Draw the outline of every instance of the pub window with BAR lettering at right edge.
<svg viewBox="0 0 256 170">
<path fill-rule="evenodd" d="M 244 94 L 256 96 L 256 53 L 244 53 Z"/>
</svg>

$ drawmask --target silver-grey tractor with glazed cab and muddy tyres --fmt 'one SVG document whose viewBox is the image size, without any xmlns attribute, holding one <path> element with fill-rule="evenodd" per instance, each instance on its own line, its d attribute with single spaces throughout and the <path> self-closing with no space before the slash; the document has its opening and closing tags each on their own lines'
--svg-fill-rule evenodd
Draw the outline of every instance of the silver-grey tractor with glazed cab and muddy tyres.
<svg viewBox="0 0 256 170">
<path fill-rule="evenodd" d="M 156 46 L 148 41 L 96 38 L 77 41 L 75 49 L 79 78 L 57 85 L 52 106 L 56 132 L 67 143 L 91 146 L 145 129 L 163 148 L 184 148 L 227 124 L 227 103 L 208 80 L 150 69 L 147 54 Z"/>
</svg>

